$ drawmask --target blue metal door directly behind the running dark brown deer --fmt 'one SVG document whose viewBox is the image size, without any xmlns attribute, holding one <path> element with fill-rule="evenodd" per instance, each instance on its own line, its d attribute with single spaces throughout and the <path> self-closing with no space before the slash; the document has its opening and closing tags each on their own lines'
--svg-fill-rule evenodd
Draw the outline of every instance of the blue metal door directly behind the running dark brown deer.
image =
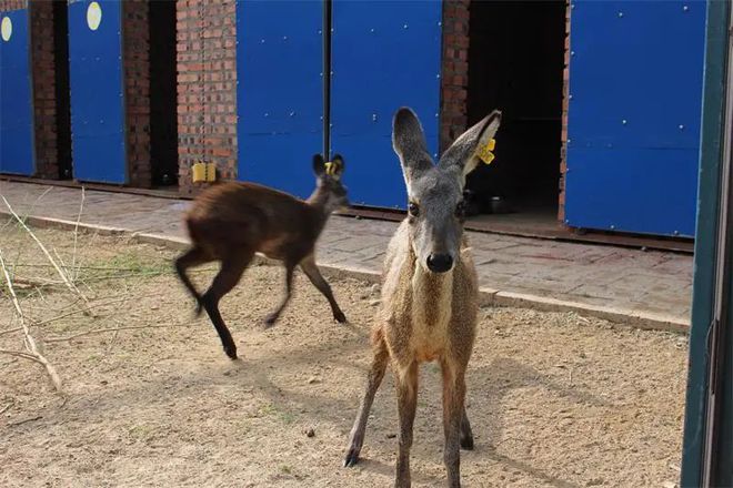
<svg viewBox="0 0 733 488">
<path fill-rule="evenodd" d="M 322 149 L 322 1 L 237 2 L 240 180 L 308 196 Z"/>
</svg>

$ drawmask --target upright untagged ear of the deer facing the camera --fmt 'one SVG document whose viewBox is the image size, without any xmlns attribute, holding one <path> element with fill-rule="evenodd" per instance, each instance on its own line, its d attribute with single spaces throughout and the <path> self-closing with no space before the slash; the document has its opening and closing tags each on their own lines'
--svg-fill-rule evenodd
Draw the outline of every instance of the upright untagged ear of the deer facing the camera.
<svg viewBox="0 0 733 488">
<path fill-rule="evenodd" d="M 400 156 L 402 173 L 408 185 L 418 174 L 433 165 L 418 115 L 406 106 L 401 108 L 394 114 L 392 148 Z"/>
</svg>

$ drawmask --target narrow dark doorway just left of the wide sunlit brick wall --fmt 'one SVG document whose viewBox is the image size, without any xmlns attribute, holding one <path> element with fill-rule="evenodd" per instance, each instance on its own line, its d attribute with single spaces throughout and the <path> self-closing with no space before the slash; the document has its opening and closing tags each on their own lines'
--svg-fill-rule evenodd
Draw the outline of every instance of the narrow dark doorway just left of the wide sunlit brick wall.
<svg viewBox="0 0 733 488">
<path fill-rule="evenodd" d="M 175 1 L 150 4 L 150 164 L 153 186 L 178 184 Z"/>
</svg>

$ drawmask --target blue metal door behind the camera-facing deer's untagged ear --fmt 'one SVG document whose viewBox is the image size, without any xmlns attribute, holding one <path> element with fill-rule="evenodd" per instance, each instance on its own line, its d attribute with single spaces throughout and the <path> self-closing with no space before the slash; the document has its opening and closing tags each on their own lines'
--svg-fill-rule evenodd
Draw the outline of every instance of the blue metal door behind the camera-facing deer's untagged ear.
<svg viewBox="0 0 733 488">
<path fill-rule="evenodd" d="M 331 145 L 347 162 L 354 204 L 404 207 L 392 115 L 412 108 L 438 153 L 440 1 L 333 2 Z"/>
</svg>

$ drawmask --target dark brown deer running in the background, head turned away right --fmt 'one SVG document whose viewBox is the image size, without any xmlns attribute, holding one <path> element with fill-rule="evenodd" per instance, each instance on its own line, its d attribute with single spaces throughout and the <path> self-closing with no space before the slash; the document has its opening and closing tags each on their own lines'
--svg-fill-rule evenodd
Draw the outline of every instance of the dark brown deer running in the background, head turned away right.
<svg viewBox="0 0 733 488">
<path fill-rule="evenodd" d="M 347 189 L 341 182 L 343 169 L 340 155 L 330 163 L 320 154 L 314 155 L 317 187 L 305 201 L 253 183 L 227 182 L 207 189 L 193 202 L 185 216 L 191 248 L 175 261 L 175 270 L 197 299 L 197 315 L 202 308 L 207 311 L 230 358 L 237 359 L 237 346 L 219 313 L 219 301 L 237 286 L 258 252 L 282 261 L 285 267 L 285 295 L 264 319 L 265 327 L 275 324 L 290 301 L 295 266 L 300 266 L 329 301 L 333 318 L 347 322 L 315 265 L 315 241 L 329 215 L 349 205 Z M 185 271 L 212 261 L 220 261 L 221 268 L 201 295 Z"/>
</svg>

